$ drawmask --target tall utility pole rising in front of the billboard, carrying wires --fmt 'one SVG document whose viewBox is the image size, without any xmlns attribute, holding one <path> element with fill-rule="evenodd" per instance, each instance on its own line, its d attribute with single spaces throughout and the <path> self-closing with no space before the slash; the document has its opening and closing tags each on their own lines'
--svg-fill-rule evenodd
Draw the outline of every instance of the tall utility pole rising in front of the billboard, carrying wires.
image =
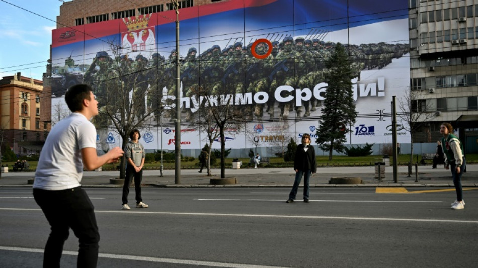
<svg viewBox="0 0 478 268">
<path fill-rule="evenodd" d="M 175 119 L 175 172 L 174 183 L 181 184 L 181 94 L 180 94 L 180 66 L 179 66 L 179 3 L 178 0 L 171 0 L 176 10 L 176 119 Z"/>
</svg>

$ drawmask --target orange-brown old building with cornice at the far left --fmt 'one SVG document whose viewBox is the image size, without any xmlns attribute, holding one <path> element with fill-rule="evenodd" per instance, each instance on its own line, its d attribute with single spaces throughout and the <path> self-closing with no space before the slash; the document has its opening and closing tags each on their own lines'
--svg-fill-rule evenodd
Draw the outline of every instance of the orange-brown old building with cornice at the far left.
<svg viewBox="0 0 478 268">
<path fill-rule="evenodd" d="M 39 154 L 48 135 L 50 109 L 43 82 L 21 73 L 0 80 L 0 139 L 17 155 Z"/>
</svg>

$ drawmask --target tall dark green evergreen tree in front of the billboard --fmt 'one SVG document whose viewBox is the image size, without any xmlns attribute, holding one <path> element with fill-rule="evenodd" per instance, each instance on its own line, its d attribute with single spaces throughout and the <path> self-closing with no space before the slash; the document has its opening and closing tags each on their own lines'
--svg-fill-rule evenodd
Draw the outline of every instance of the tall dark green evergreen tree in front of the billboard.
<svg viewBox="0 0 478 268">
<path fill-rule="evenodd" d="M 330 161 L 333 150 L 344 151 L 346 134 L 351 131 L 349 126 L 355 123 L 357 112 L 351 81 L 354 75 L 347 52 L 341 43 L 337 43 L 332 56 L 325 64 L 329 70 L 329 86 L 325 93 L 322 120 L 318 122 L 318 138 L 315 142 L 322 150 L 329 152 Z"/>
</svg>

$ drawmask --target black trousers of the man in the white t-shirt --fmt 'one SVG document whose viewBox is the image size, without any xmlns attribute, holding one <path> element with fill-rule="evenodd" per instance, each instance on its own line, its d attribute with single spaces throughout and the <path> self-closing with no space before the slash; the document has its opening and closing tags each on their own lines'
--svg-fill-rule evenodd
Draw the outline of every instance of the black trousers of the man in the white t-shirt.
<svg viewBox="0 0 478 268">
<path fill-rule="evenodd" d="M 85 190 L 79 186 L 57 191 L 33 189 L 33 197 L 51 226 L 43 267 L 60 267 L 69 228 L 79 239 L 77 267 L 96 267 L 100 234 L 93 204 Z"/>
</svg>

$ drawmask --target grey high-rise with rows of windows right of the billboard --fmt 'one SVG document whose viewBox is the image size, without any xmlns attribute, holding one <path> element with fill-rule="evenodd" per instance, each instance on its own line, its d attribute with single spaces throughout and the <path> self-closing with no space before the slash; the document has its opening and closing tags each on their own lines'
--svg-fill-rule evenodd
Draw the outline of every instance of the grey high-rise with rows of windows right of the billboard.
<svg viewBox="0 0 478 268">
<path fill-rule="evenodd" d="M 441 122 L 458 130 L 466 153 L 478 152 L 478 1 L 410 0 L 413 109 L 433 113 L 414 142 L 436 142 Z"/>
</svg>

